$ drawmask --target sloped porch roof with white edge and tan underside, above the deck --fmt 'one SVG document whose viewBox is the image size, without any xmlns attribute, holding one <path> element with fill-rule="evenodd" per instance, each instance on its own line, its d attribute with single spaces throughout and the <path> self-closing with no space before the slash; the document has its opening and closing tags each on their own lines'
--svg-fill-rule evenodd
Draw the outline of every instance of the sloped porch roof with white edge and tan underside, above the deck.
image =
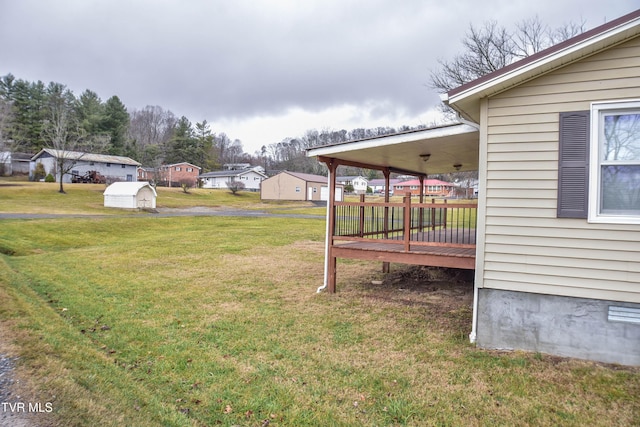
<svg viewBox="0 0 640 427">
<path fill-rule="evenodd" d="M 420 176 L 478 170 L 479 132 L 466 123 L 325 145 L 308 157 Z"/>
</svg>

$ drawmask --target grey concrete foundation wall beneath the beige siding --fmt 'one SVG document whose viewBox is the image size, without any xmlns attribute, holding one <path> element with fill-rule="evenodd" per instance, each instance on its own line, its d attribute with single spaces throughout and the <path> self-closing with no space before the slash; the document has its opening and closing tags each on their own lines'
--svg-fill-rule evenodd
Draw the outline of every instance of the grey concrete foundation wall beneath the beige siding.
<svg viewBox="0 0 640 427">
<path fill-rule="evenodd" d="M 640 323 L 609 319 L 609 308 L 640 304 L 479 289 L 477 343 L 640 366 Z"/>
</svg>

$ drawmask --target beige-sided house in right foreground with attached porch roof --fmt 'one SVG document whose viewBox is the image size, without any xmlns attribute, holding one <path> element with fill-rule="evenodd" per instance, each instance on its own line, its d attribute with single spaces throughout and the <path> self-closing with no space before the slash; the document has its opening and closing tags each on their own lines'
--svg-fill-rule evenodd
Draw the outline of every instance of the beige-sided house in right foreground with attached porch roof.
<svg viewBox="0 0 640 427">
<path fill-rule="evenodd" d="M 471 341 L 640 365 L 638 58 L 640 10 L 444 94 L 464 123 L 308 155 L 330 172 L 341 162 L 417 175 L 477 169 Z M 385 157 L 391 150 L 401 154 Z M 362 242 L 347 252 L 333 240 L 330 290 L 338 256 L 446 264 L 437 244 L 429 256 L 406 241 L 365 258 L 353 246 Z M 456 262 L 470 268 L 458 246 Z"/>
</svg>

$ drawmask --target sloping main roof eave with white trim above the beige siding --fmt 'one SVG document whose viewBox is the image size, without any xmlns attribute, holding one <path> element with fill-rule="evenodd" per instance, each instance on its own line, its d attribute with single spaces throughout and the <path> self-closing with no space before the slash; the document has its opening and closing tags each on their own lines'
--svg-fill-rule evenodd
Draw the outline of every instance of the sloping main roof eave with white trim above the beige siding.
<svg viewBox="0 0 640 427">
<path fill-rule="evenodd" d="M 586 58 L 640 34 L 640 10 L 596 27 L 549 49 L 440 95 L 463 117 L 480 123 L 480 99 Z"/>
</svg>

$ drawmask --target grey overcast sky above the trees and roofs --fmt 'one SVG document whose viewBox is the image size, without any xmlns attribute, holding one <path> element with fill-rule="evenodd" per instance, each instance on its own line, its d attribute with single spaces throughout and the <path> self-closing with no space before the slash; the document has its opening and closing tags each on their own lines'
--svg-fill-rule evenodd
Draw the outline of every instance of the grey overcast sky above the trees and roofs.
<svg viewBox="0 0 640 427">
<path fill-rule="evenodd" d="M 469 25 L 590 29 L 635 0 L 0 0 L 0 76 L 159 105 L 246 152 L 309 129 L 430 124 Z"/>
</svg>

